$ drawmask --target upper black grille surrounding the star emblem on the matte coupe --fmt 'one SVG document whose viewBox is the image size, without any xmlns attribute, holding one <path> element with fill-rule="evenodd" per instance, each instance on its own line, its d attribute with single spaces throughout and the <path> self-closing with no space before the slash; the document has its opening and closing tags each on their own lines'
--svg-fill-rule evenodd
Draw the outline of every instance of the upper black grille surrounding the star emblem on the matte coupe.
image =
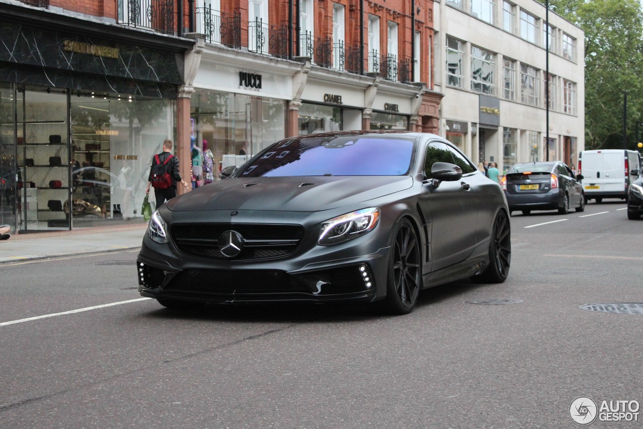
<svg viewBox="0 0 643 429">
<path fill-rule="evenodd" d="M 233 258 L 219 250 L 219 237 L 236 231 L 244 238 L 244 248 Z M 170 236 L 177 248 L 195 257 L 218 260 L 257 260 L 284 257 L 293 253 L 303 238 L 303 226 L 285 224 L 202 223 L 174 224 Z"/>
</svg>

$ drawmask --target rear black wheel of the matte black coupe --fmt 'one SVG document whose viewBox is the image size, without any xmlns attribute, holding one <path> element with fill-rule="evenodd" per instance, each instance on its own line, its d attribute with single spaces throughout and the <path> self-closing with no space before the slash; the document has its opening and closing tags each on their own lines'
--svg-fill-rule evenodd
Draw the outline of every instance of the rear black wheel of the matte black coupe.
<svg viewBox="0 0 643 429">
<path fill-rule="evenodd" d="M 509 275 L 511 266 L 511 226 L 505 212 L 496 216 L 489 244 L 489 267 L 480 275 L 473 277 L 476 282 L 502 283 Z"/>
</svg>

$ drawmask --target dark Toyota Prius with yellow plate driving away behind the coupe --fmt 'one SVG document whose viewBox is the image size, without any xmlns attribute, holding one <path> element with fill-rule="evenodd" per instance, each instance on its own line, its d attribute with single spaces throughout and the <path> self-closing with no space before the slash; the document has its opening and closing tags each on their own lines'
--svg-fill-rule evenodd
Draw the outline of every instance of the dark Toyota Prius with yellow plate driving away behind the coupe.
<svg viewBox="0 0 643 429">
<path fill-rule="evenodd" d="M 509 213 L 521 210 L 558 210 L 567 214 L 570 208 L 585 210 L 581 185 L 583 176 L 575 176 L 572 169 L 561 161 L 514 164 L 502 179 Z"/>
</svg>

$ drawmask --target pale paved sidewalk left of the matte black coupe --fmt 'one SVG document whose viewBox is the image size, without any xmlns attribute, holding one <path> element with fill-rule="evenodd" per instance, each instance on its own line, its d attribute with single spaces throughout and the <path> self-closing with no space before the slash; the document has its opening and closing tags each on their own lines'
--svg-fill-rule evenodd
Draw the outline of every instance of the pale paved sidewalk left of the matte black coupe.
<svg viewBox="0 0 643 429">
<path fill-rule="evenodd" d="M 141 247 L 147 223 L 17 234 L 0 241 L 0 264 Z"/>
</svg>

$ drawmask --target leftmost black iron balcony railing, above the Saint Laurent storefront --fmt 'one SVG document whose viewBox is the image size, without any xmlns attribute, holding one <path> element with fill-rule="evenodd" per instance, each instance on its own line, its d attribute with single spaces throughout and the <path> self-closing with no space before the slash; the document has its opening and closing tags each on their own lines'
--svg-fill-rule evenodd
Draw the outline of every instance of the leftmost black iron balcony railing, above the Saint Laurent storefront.
<svg viewBox="0 0 643 429">
<path fill-rule="evenodd" d="M 174 3 L 172 0 L 118 0 L 117 22 L 174 33 Z"/>
</svg>

